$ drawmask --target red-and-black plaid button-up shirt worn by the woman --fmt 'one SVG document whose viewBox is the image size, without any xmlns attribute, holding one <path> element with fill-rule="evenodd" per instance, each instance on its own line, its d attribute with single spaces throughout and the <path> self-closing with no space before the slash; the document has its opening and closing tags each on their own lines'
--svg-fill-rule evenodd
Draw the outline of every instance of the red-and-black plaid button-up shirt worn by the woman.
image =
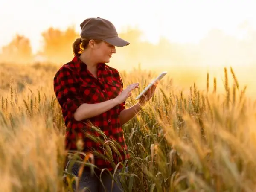
<svg viewBox="0 0 256 192">
<path fill-rule="evenodd" d="M 119 114 L 125 109 L 125 102 L 90 119 L 76 121 L 73 118 L 73 113 L 81 104 L 104 102 L 115 98 L 122 91 L 122 79 L 116 69 L 106 64 L 98 64 L 97 75 L 98 79 L 87 70 L 86 64 L 77 56 L 72 61 L 64 64 L 55 74 L 54 92 L 61 106 L 67 127 L 65 148 L 66 150 L 77 150 L 76 142 L 79 138 L 82 138 L 84 152 L 90 152 L 94 148 L 104 156 L 106 155 L 106 151 L 102 149 L 102 144 L 85 137 L 82 130 L 89 131 L 90 134 L 100 137 L 97 131 L 91 130 L 90 126 L 86 124 L 89 121 L 100 128 L 108 138 L 116 140 L 122 147 L 122 150 L 117 148 L 122 159 L 112 150 L 114 163 L 117 164 L 119 161 L 129 158 L 128 148 L 119 121 Z M 94 157 L 94 160 L 98 168 L 113 170 L 111 163 L 103 160 L 103 158 Z"/>
</svg>

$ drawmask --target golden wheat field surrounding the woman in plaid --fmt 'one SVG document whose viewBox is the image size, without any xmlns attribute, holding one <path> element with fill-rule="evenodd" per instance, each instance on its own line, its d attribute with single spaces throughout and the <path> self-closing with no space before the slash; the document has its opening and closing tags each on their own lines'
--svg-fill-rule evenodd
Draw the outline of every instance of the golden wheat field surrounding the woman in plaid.
<svg viewBox="0 0 256 192">
<path fill-rule="evenodd" d="M 52 64 L 0 65 L 1 192 L 66 192 L 72 182 L 79 183 L 69 169 L 64 177 L 64 158 L 70 154 L 64 151 L 65 126 L 52 87 L 57 69 Z M 127 107 L 157 75 L 120 73 L 125 86 L 140 82 Z M 171 76 L 164 78 L 151 101 L 123 125 L 131 154 L 122 162 L 130 166 L 121 173 L 125 191 L 256 191 L 256 102 L 232 68 L 223 73 L 224 84 L 206 74 L 204 90 L 191 82 L 190 89 L 180 91 Z M 116 150 L 118 143 L 110 148 Z M 111 160 L 111 150 L 105 158 Z"/>
</svg>

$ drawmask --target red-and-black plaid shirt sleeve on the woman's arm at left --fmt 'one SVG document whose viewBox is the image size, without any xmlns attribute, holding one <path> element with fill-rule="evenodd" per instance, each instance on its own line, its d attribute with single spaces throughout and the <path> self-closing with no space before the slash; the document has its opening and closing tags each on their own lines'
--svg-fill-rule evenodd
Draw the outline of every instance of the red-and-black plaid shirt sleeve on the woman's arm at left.
<svg viewBox="0 0 256 192">
<path fill-rule="evenodd" d="M 83 103 L 79 95 L 79 84 L 68 68 L 61 68 L 54 77 L 54 92 L 61 105 L 62 112 L 73 118 L 76 109 Z"/>
</svg>

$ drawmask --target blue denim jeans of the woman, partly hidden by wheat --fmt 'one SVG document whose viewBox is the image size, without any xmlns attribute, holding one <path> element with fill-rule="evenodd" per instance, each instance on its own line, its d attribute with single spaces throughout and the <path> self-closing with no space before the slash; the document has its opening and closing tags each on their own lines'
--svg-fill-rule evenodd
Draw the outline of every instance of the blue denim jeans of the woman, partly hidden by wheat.
<svg viewBox="0 0 256 192">
<path fill-rule="evenodd" d="M 128 171 L 128 167 L 126 167 L 125 172 Z M 72 174 L 76 177 L 78 176 L 79 172 L 79 164 L 75 163 L 72 167 Z M 109 175 L 108 171 L 102 172 L 100 176 L 100 172 L 93 172 L 91 175 L 90 168 L 84 167 L 83 173 L 79 179 L 79 186 L 78 191 L 80 192 L 123 192 L 122 185 L 120 183 L 120 176 L 119 173 L 121 169 L 117 169 L 114 175 L 115 180 L 113 180 L 112 184 L 112 177 Z M 101 180 L 102 182 L 101 182 Z M 103 187 L 103 185 L 104 187 Z M 76 184 L 73 184 L 73 191 L 76 191 Z"/>
</svg>

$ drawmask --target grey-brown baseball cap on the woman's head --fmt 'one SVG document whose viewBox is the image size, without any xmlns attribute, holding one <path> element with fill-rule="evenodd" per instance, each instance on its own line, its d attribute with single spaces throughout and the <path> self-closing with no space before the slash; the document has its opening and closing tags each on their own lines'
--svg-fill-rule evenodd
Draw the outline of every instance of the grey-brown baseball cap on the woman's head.
<svg viewBox="0 0 256 192">
<path fill-rule="evenodd" d="M 80 27 L 81 38 L 102 40 L 116 47 L 130 44 L 118 36 L 115 26 L 109 20 L 100 17 L 87 18 L 80 24 Z"/>
</svg>

